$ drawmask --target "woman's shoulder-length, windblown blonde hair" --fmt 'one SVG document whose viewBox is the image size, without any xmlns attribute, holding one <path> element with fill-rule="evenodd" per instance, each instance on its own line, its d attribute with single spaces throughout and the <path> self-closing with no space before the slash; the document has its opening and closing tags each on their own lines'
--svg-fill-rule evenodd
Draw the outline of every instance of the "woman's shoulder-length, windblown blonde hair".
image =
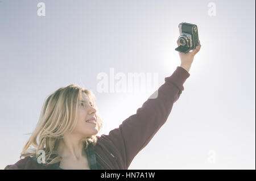
<svg viewBox="0 0 256 181">
<path fill-rule="evenodd" d="M 46 158 L 44 164 L 51 165 L 61 161 L 57 148 L 64 133 L 71 133 L 76 127 L 82 92 L 88 95 L 92 106 L 97 110 L 97 128 L 100 131 L 103 122 L 98 113 L 93 92 L 73 84 L 61 87 L 49 95 L 44 102 L 38 124 L 24 146 L 20 158 L 28 156 L 38 158 L 38 151 L 44 150 Z M 96 145 L 97 137 L 93 135 L 85 137 L 81 141 L 84 142 L 86 149 L 89 143 L 93 146 Z"/>
</svg>

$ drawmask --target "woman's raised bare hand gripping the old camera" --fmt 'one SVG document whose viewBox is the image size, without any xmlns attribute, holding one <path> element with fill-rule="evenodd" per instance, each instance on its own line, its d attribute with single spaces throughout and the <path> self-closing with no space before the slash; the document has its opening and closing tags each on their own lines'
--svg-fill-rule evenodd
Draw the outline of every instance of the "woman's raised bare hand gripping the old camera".
<svg viewBox="0 0 256 181">
<path fill-rule="evenodd" d="M 180 46 L 179 39 L 177 40 L 177 45 Z M 187 52 L 187 53 L 179 52 L 180 61 L 181 61 L 180 66 L 185 70 L 189 71 L 189 69 L 191 68 L 194 56 L 196 55 L 197 52 L 199 52 L 200 48 L 201 48 L 201 44 L 197 45 L 196 48 L 193 49 L 191 52 Z"/>
</svg>

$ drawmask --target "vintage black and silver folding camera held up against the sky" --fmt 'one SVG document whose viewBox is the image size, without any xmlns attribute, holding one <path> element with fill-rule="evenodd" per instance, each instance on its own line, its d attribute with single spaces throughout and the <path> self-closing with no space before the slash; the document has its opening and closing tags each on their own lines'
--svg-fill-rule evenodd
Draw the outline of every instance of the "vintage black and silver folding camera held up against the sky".
<svg viewBox="0 0 256 181">
<path fill-rule="evenodd" d="M 180 23 L 179 24 L 179 42 L 180 46 L 175 48 L 178 52 L 187 53 L 189 50 L 195 49 L 200 44 L 198 37 L 198 29 L 196 24 Z"/>
</svg>

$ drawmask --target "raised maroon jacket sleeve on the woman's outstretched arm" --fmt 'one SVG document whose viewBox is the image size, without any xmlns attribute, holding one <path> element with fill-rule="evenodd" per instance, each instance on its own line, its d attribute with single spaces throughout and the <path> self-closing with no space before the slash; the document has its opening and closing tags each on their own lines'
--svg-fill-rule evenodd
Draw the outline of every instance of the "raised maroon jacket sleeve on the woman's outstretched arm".
<svg viewBox="0 0 256 181">
<path fill-rule="evenodd" d="M 190 76 L 187 70 L 177 66 L 170 77 L 164 78 L 164 83 L 158 90 L 131 115 L 113 129 L 105 139 L 113 142 L 119 150 L 126 167 L 130 166 L 135 155 L 139 153 L 152 139 L 156 132 L 166 122 L 173 104 L 184 90 L 183 84 Z"/>
</svg>

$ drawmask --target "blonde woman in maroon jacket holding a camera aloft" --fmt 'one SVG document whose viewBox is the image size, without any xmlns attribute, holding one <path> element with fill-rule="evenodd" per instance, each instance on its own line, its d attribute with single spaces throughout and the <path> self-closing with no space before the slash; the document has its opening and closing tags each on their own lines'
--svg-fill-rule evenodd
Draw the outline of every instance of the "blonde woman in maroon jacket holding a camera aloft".
<svg viewBox="0 0 256 181">
<path fill-rule="evenodd" d="M 148 98 L 137 113 L 108 135 L 96 136 L 102 120 L 92 92 L 75 85 L 56 90 L 44 103 L 35 131 L 20 155 L 24 158 L 5 169 L 128 169 L 166 122 L 200 48 L 179 52 L 181 65 L 164 79 L 156 98 Z"/>
</svg>

